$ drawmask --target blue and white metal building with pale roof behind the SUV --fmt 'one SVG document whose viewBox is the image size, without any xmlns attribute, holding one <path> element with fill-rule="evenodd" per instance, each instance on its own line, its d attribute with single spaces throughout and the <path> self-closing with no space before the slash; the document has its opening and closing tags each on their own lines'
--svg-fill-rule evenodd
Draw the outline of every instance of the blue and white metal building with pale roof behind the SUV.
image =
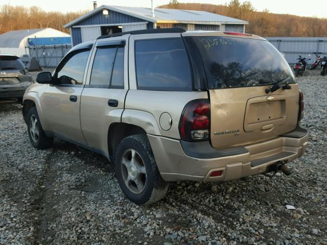
<svg viewBox="0 0 327 245">
<path fill-rule="evenodd" d="M 102 5 L 65 24 L 71 29 L 72 44 L 101 35 L 153 28 L 181 27 L 186 31 L 244 32 L 247 21 L 205 11 L 151 9 Z"/>
</svg>

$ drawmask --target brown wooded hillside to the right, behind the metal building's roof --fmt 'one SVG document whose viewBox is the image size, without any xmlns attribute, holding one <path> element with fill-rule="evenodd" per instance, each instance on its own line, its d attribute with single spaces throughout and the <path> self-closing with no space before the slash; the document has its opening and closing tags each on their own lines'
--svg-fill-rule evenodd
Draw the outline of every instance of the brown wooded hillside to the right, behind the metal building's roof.
<svg viewBox="0 0 327 245">
<path fill-rule="evenodd" d="M 160 8 L 200 10 L 249 21 L 247 33 L 263 37 L 326 37 L 327 18 L 300 17 L 290 14 L 269 13 L 266 9 L 256 11 L 251 2 L 232 0 L 229 4 L 182 4 L 171 0 Z"/>
</svg>

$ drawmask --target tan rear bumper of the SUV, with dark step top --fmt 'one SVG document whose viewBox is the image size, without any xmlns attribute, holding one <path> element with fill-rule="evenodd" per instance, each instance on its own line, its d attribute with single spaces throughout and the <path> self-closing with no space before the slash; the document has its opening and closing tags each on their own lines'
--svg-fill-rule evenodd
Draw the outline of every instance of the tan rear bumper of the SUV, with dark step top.
<svg viewBox="0 0 327 245">
<path fill-rule="evenodd" d="M 303 128 L 301 128 L 303 129 Z M 193 148 L 193 154 L 183 150 L 180 140 L 148 135 L 153 154 L 162 178 L 166 181 L 229 181 L 242 177 L 265 173 L 269 165 L 278 161 L 290 162 L 306 150 L 308 143 L 307 130 L 290 132 L 287 135 L 271 140 L 246 145 L 241 148 L 230 148 L 218 151 L 218 157 L 206 158 L 198 155 L 197 151 L 204 149 Z M 287 136 L 287 137 L 286 137 Z M 300 136 L 300 137 L 299 137 Z M 213 154 L 212 146 L 208 144 Z M 185 148 L 185 146 L 184 146 Z M 217 151 L 214 149 L 214 151 Z M 186 152 L 186 153 L 185 153 Z M 192 155 L 192 156 L 190 156 Z M 222 170 L 222 175 L 210 177 L 213 171 Z"/>
</svg>

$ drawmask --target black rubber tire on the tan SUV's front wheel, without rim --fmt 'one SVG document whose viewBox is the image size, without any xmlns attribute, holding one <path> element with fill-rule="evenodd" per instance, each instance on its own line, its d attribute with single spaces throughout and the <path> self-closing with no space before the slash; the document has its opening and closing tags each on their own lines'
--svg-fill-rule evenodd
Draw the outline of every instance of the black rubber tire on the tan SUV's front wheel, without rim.
<svg viewBox="0 0 327 245">
<path fill-rule="evenodd" d="M 36 118 L 36 126 L 38 128 L 38 137 L 37 139 L 33 139 L 32 137 L 32 132 L 31 132 L 31 120 L 32 118 Z M 34 148 L 36 149 L 48 149 L 48 148 L 51 148 L 52 146 L 52 143 L 53 143 L 53 138 L 52 137 L 46 137 L 44 131 L 43 131 L 43 128 L 41 126 L 41 123 L 40 123 L 40 118 L 37 114 L 37 110 L 36 110 L 36 107 L 32 107 L 28 114 L 27 114 L 27 131 L 29 133 L 29 138 L 30 138 L 30 142 L 31 144 L 34 146 Z"/>
</svg>

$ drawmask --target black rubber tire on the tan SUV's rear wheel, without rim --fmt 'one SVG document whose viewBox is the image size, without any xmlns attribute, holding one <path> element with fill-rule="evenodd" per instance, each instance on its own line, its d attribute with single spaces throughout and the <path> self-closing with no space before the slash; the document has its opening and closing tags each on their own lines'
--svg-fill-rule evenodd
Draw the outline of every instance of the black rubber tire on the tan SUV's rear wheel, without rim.
<svg viewBox="0 0 327 245">
<path fill-rule="evenodd" d="M 129 150 L 136 151 L 146 169 L 146 180 L 141 193 L 133 193 L 124 181 L 122 161 L 125 152 Z M 115 173 L 126 197 L 138 205 L 155 203 L 162 199 L 168 190 L 169 183 L 160 176 L 146 135 L 131 135 L 120 142 L 115 151 Z"/>
</svg>

